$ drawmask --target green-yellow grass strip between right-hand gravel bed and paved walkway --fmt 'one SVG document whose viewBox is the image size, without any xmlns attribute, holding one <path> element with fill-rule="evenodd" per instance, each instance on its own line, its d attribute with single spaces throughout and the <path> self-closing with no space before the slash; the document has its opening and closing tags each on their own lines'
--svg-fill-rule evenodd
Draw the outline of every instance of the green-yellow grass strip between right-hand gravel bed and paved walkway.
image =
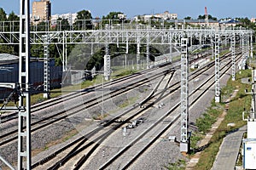
<svg viewBox="0 0 256 170">
<path fill-rule="evenodd" d="M 215 157 L 218 154 L 218 149 L 220 144 L 227 133 L 235 130 L 236 128 L 246 125 L 247 122 L 242 121 L 242 111 L 244 108 L 248 111 L 251 107 L 251 95 L 245 94 L 245 89 L 250 89 L 251 85 L 242 84 L 242 77 L 251 77 L 251 71 L 241 71 L 241 74 L 237 74 L 236 81 L 232 81 L 231 78 L 227 83 L 225 88 L 222 88 L 222 95 L 229 97 L 233 91 L 239 87 L 239 91 L 236 94 L 236 97 L 230 101 L 229 110 L 227 115 L 224 117 L 224 121 L 221 122 L 217 131 L 213 134 L 212 139 L 209 142 L 209 145 L 205 150 L 201 152 L 201 158 L 196 164 L 194 169 L 211 169 Z M 215 122 L 216 118 L 222 113 L 224 104 L 215 105 L 212 102 L 212 106 L 207 110 L 201 118 L 196 121 L 196 125 L 202 133 L 207 133 L 207 130 L 212 126 L 212 123 Z M 236 123 L 236 127 L 227 127 L 227 124 L 233 122 Z M 196 143 L 200 138 L 197 135 L 200 133 L 195 133 L 195 137 L 192 137 L 194 143 Z"/>
</svg>

